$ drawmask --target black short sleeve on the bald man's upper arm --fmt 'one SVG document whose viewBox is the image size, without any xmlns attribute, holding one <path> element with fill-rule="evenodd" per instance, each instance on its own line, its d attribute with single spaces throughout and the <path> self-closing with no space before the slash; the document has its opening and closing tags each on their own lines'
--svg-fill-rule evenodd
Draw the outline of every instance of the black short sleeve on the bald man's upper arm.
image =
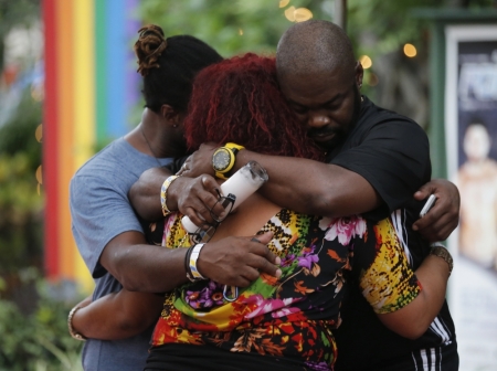
<svg viewBox="0 0 497 371">
<path fill-rule="evenodd" d="M 431 178 L 426 134 L 410 120 L 390 119 L 372 126 L 359 144 L 331 163 L 360 174 L 374 188 L 389 209 L 382 218 L 405 205 Z"/>
</svg>

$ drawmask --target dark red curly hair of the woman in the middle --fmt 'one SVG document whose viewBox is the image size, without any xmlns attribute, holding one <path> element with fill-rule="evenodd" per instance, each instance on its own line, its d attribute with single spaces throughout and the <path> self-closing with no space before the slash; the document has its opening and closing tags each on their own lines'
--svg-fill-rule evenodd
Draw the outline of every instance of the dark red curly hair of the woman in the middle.
<svg viewBox="0 0 497 371">
<path fill-rule="evenodd" d="M 198 74 L 184 137 L 192 150 L 232 141 L 265 155 L 324 159 L 279 91 L 275 60 L 252 53 Z"/>
</svg>

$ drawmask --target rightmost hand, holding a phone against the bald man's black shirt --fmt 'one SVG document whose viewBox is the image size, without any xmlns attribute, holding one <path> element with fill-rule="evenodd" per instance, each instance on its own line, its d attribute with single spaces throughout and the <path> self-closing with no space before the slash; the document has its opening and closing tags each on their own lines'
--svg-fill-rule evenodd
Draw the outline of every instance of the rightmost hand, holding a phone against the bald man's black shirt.
<svg viewBox="0 0 497 371">
<path fill-rule="evenodd" d="M 412 229 L 430 242 L 444 241 L 459 223 L 459 191 L 445 179 L 435 179 L 414 193 L 416 200 L 436 195 L 436 202 L 426 215 L 417 220 Z"/>
</svg>

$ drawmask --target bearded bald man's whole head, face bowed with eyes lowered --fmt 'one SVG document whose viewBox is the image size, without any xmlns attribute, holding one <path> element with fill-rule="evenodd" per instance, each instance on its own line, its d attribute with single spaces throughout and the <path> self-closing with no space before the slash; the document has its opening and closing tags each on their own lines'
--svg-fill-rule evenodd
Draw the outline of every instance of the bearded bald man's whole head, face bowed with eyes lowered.
<svg viewBox="0 0 497 371">
<path fill-rule="evenodd" d="M 345 140 L 360 115 L 363 71 L 343 30 L 314 20 L 293 25 L 278 43 L 276 72 L 307 135 L 325 151 Z"/>
</svg>

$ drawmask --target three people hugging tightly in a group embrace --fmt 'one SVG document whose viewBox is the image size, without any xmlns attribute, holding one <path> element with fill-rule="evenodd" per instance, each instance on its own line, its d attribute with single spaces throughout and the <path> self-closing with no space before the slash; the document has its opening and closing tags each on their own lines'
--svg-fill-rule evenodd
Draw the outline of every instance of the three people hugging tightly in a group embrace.
<svg viewBox="0 0 497 371">
<path fill-rule="evenodd" d="M 340 28 L 223 60 L 148 25 L 135 51 L 141 123 L 71 182 L 85 370 L 458 369 L 437 242 L 457 189 L 416 123 L 361 95 Z M 268 181 L 233 208 L 221 184 L 252 161 Z"/>
</svg>

